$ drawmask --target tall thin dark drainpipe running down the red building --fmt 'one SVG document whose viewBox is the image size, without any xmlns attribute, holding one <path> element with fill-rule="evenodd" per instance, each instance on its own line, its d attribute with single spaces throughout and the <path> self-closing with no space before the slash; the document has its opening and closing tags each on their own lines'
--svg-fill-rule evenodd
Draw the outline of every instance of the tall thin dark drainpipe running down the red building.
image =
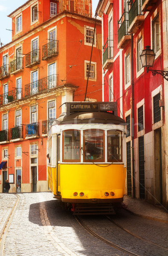
<svg viewBox="0 0 168 256">
<path fill-rule="evenodd" d="M 135 198 L 135 168 L 134 168 L 134 90 L 133 90 L 133 34 L 131 34 L 131 88 L 132 88 L 132 166 L 133 166 L 133 198 Z"/>
</svg>

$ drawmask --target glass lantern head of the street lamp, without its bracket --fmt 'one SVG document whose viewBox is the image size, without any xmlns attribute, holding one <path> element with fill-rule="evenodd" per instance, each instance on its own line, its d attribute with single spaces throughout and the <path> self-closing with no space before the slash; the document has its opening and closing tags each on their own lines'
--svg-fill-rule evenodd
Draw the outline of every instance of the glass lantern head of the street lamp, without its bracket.
<svg viewBox="0 0 168 256">
<path fill-rule="evenodd" d="M 142 51 L 140 55 L 142 67 L 152 67 L 155 59 L 154 51 L 150 47 L 146 46 L 146 49 Z"/>
</svg>

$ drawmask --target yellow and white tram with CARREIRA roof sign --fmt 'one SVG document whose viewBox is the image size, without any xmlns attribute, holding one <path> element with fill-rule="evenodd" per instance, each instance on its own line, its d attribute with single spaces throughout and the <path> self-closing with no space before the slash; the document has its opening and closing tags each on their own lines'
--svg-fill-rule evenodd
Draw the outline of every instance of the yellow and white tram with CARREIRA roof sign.
<svg viewBox="0 0 168 256">
<path fill-rule="evenodd" d="M 48 133 L 48 180 L 55 198 L 72 211 L 80 204 L 100 209 L 122 202 L 126 124 L 116 102 L 66 102 L 66 108 Z"/>
</svg>

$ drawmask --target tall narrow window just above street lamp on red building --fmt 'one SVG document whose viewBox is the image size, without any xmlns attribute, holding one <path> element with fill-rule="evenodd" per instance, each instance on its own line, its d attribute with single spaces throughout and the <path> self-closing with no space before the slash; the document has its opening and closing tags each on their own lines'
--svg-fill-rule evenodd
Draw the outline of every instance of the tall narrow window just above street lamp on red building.
<svg viewBox="0 0 168 256">
<path fill-rule="evenodd" d="M 156 53 L 160 49 L 159 45 L 159 14 L 156 15 L 154 20 L 152 21 L 152 40 L 153 40 L 153 49 L 154 53 Z"/>
</svg>

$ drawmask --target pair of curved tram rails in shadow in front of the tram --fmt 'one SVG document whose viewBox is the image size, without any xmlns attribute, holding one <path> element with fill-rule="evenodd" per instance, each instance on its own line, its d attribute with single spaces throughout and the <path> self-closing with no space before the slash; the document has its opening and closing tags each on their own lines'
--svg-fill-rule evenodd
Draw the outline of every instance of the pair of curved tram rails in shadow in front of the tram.
<svg viewBox="0 0 168 256">
<path fill-rule="evenodd" d="M 134 238 L 136 239 L 140 239 L 150 245 L 154 245 L 156 247 L 159 247 L 161 248 L 162 250 L 168 250 L 167 248 L 165 247 L 162 247 L 160 246 L 159 244 L 156 244 L 152 241 L 148 241 L 147 239 L 144 239 L 134 233 L 131 233 L 129 230 L 127 230 L 125 227 L 122 227 L 120 224 L 118 224 L 116 221 L 113 221 L 111 218 L 109 218 L 109 216 L 107 215 L 104 215 L 106 218 L 108 218 L 110 220 L 110 222 L 112 222 L 113 224 L 115 224 L 117 227 L 119 227 L 120 229 L 126 231 L 127 233 L 129 233 L 131 236 L 133 236 Z M 133 253 L 133 252 L 130 252 L 130 250 L 127 250 L 127 249 L 124 249 L 123 247 L 119 246 L 118 244 L 115 244 L 113 243 L 112 241 L 109 241 L 105 238 L 103 238 L 102 236 L 98 235 L 96 232 L 94 232 L 90 227 L 87 226 L 87 224 L 84 223 L 84 221 L 78 216 L 78 215 L 75 215 L 75 219 L 76 221 L 78 221 L 78 223 L 85 229 L 87 230 L 88 233 L 90 233 L 91 235 L 93 235 L 94 237 L 96 237 L 97 239 L 100 239 L 101 241 L 103 241 L 105 244 L 108 244 L 110 245 L 111 247 L 114 247 L 120 251 L 122 251 L 123 253 L 127 253 L 127 255 L 130 255 L 130 256 L 139 256 L 138 254 L 136 253 Z"/>
</svg>

